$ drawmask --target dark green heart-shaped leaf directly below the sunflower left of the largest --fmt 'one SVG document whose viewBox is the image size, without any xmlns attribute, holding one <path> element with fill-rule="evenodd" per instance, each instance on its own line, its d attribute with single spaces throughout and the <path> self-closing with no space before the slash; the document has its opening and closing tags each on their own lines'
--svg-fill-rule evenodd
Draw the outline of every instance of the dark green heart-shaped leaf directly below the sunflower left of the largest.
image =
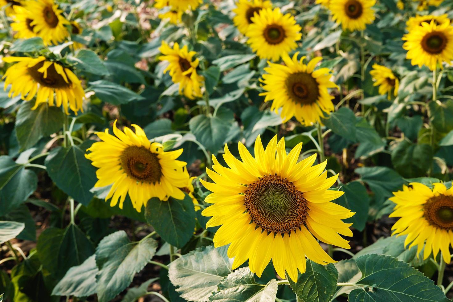
<svg viewBox="0 0 453 302">
<path fill-rule="evenodd" d="M 168 201 L 151 198 L 145 208 L 145 218 L 163 240 L 181 248 L 193 235 L 195 209 L 190 196 L 183 200 L 170 197 Z"/>
</svg>

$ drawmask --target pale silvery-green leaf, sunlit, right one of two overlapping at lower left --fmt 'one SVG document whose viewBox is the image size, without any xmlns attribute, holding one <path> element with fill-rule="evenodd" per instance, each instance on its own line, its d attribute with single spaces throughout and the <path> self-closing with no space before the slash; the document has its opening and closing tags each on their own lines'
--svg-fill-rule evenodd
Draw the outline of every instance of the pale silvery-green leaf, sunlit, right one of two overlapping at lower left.
<svg viewBox="0 0 453 302">
<path fill-rule="evenodd" d="M 135 274 L 153 258 L 156 249 L 156 240 L 131 242 L 122 230 L 104 237 L 96 248 L 99 302 L 110 301 L 127 288 Z"/>
</svg>

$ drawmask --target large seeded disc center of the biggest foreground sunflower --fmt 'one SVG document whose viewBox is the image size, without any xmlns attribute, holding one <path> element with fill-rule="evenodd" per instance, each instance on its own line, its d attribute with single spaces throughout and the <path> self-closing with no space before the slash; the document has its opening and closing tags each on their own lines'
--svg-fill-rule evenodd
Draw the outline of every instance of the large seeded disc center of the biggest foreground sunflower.
<svg viewBox="0 0 453 302">
<path fill-rule="evenodd" d="M 292 182 L 277 175 L 261 177 L 248 185 L 244 205 L 258 227 L 286 233 L 299 229 L 307 215 L 307 201 Z"/>
</svg>

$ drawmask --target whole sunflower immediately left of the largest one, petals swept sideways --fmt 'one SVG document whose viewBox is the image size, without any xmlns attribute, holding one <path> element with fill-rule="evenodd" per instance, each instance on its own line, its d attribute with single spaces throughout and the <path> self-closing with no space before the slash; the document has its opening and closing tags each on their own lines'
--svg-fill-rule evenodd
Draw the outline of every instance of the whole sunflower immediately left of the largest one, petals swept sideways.
<svg viewBox="0 0 453 302">
<path fill-rule="evenodd" d="M 123 202 L 129 194 L 135 210 L 141 211 L 152 197 L 162 201 L 169 197 L 183 199 L 182 187 L 188 184 L 187 163 L 177 160 L 183 149 L 165 152 L 160 143 L 151 143 L 145 132 L 132 125 L 135 133 L 125 127 L 124 132 L 113 124 L 114 135 L 97 132 L 102 140 L 87 149 L 85 155 L 97 169 L 98 181 L 95 187 L 112 185 L 106 200 L 111 198 L 110 206 Z"/>
</svg>

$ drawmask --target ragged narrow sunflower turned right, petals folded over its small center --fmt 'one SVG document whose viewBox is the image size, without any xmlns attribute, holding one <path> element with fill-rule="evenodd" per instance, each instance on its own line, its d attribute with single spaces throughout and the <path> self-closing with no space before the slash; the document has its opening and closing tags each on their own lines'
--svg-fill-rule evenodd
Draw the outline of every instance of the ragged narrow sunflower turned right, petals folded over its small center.
<svg viewBox="0 0 453 302">
<path fill-rule="evenodd" d="M 169 62 L 164 73 L 169 71 L 173 82 L 179 83 L 179 94 L 184 94 L 189 99 L 201 97 L 201 86 L 204 78 L 197 74 L 199 60 L 193 60 L 193 56 L 197 53 L 189 52 L 187 45 L 179 48 L 178 43 L 174 43 L 173 48 L 170 48 L 165 41 L 162 41 L 159 51 L 163 54 L 159 60 Z"/>
</svg>

